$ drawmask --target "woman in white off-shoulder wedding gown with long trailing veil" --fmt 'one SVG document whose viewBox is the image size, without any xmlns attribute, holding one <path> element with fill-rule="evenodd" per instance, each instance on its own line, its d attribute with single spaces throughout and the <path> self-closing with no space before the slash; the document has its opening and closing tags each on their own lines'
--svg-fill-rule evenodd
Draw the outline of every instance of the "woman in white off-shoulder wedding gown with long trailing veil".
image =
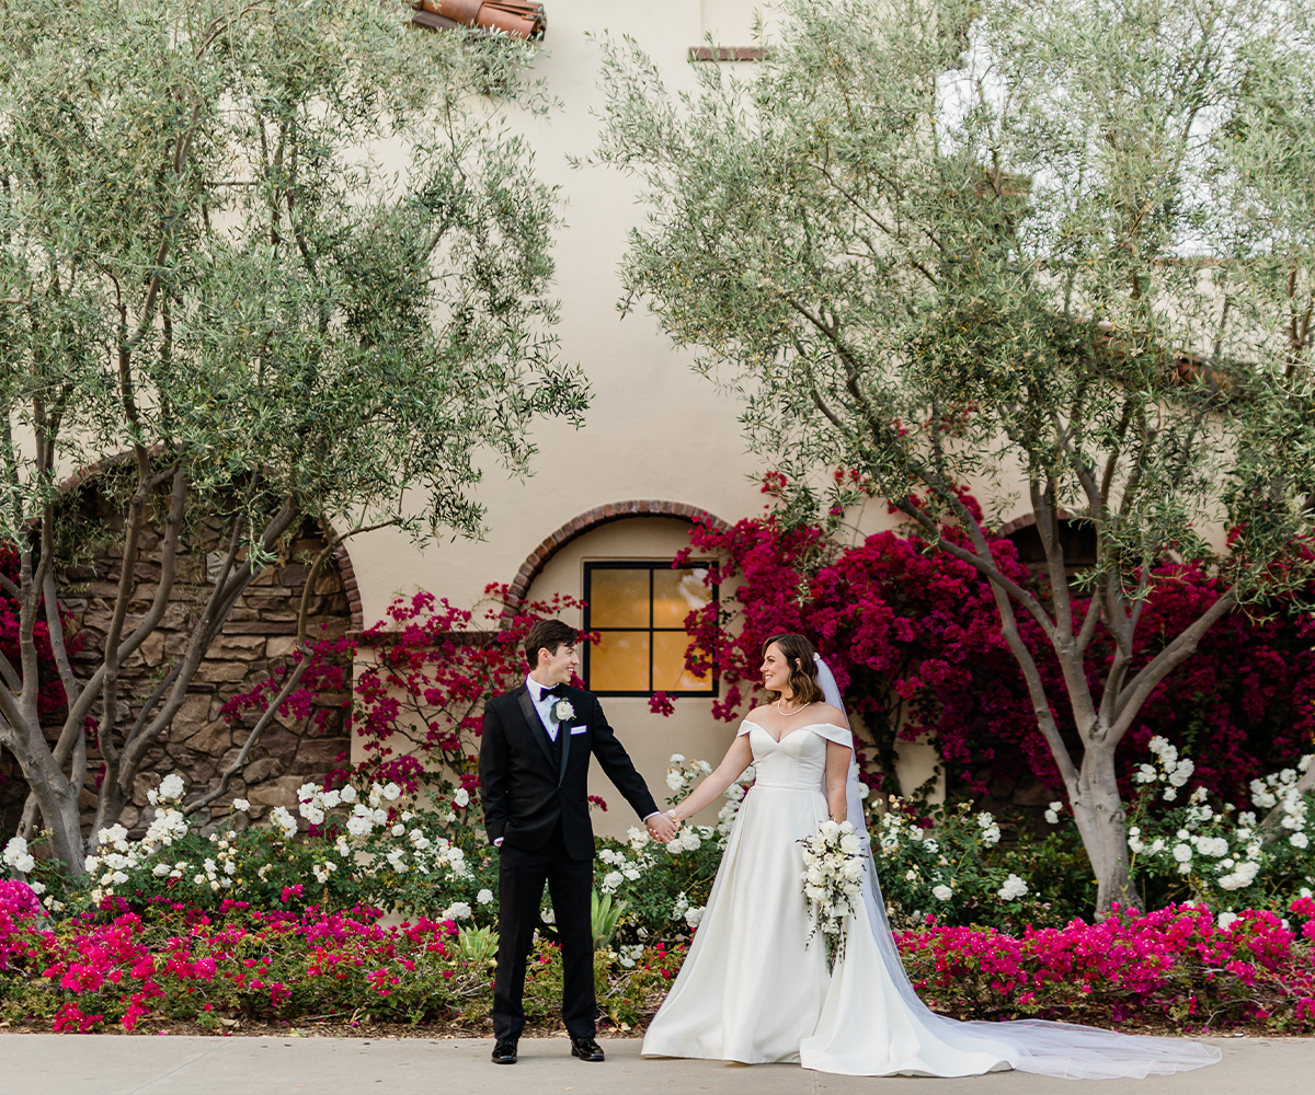
<svg viewBox="0 0 1315 1095">
<path fill-rule="evenodd" d="M 871 856 L 864 900 L 828 973 L 821 936 L 807 943 L 800 840 L 830 816 L 852 822 L 867 845 L 852 739 L 835 678 L 802 635 L 765 643 L 763 684 L 775 702 L 750 711 L 717 770 L 668 811 L 689 819 L 756 766 L 685 965 L 648 1027 L 646 1057 L 794 1061 L 848 1075 L 1019 1069 L 1068 1079 L 1143 1078 L 1220 1058 L 1177 1038 L 934 1013 L 905 974 Z"/>
</svg>

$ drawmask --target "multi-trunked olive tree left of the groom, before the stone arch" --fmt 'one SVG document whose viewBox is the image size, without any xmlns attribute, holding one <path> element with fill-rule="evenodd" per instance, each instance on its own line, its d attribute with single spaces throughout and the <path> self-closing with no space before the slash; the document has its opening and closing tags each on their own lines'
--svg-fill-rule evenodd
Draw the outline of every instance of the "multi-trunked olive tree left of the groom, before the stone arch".
<svg viewBox="0 0 1315 1095">
<path fill-rule="evenodd" d="M 525 80 L 531 47 L 417 33 L 409 12 L 0 5 L 0 536 L 21 609 L 0 744 L 70 872 L 295 524 L 331 523 L 334 543 L 381 523 L 477 535 L 480 468 L 522 472 L 531 419 L 585 406 L 552 334 L 555 196 L 505 124 L 548 108 Z M 103 657 L 80 678 L 58 599 L 88 532 L 60 480 L 96 461 L 126 515 Z M 197 514 L 224 522 L 209 584 L 179 574 Z M 153 522 L 160 578 L 133 615 Z M 128 703 L 120 668 L 184 580 L 200 590 L 185 651 Z M 67 698 L 54 727 L 38 715 L 46 632 Z M 88 734 L 104 762 L 89 837 Z"/>
</svg>

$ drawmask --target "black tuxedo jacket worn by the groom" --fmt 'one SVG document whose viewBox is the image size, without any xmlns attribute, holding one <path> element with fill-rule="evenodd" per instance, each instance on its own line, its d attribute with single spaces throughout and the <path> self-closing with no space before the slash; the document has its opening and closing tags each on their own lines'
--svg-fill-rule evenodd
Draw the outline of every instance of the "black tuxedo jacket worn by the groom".
<svg viewBox="0 0 1315 1095">
<path fill-rule="evenodd" d="M 597 698 L 581 689 L 565 689 L 575 716 L 558 730 L 560 756 L 554 749 L 526 685 L 494 697 L 484 707 L 480 741 L 480 802 L 489 843 L 502 837 L 526 852 L 542 848 L 558 820 L 567 853 L 573 860 L 593 858 L 589 823 L 589 755 L 640 818 L 658 804 Z"/>
</svg>

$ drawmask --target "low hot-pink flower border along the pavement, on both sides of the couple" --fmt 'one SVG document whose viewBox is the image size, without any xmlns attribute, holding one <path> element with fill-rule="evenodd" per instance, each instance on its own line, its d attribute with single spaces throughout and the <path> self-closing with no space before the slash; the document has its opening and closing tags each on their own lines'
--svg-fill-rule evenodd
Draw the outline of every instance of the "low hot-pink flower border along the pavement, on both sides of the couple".
<svg viewBox="0 0 1315 1095">
<path fill-rule="evenodd" d="M 21 907 L 20 907 L 21 906 Z M 30 902 L 0 907 L 0 1019 L 88 1032 L 151 1021 L 224 1031 L 238 1021 L 351 1024 L 363 1020 L 476 1025 L 492 1002 L 493 939 L 451 920 L 384 928 L 376 910 L 260 912 L 225 902 L 212 912 L 151 902 L 47 925 Z M 1041 1016 L 1137 1029 L 1206 1032 L 1245 1025 L 1315 1031 L 1315 900 L 1226 915 L 1197 907 L 1022 936 L 931 921 L 897 941 L 918 991 L 964 1019 Z M 618 1028 L 660 1004 L 684 948 L 600 950 L 602 1012 Z M 530 962 L 526 1013 L 554 1023 L 558 948 Z"/>
</svg>

